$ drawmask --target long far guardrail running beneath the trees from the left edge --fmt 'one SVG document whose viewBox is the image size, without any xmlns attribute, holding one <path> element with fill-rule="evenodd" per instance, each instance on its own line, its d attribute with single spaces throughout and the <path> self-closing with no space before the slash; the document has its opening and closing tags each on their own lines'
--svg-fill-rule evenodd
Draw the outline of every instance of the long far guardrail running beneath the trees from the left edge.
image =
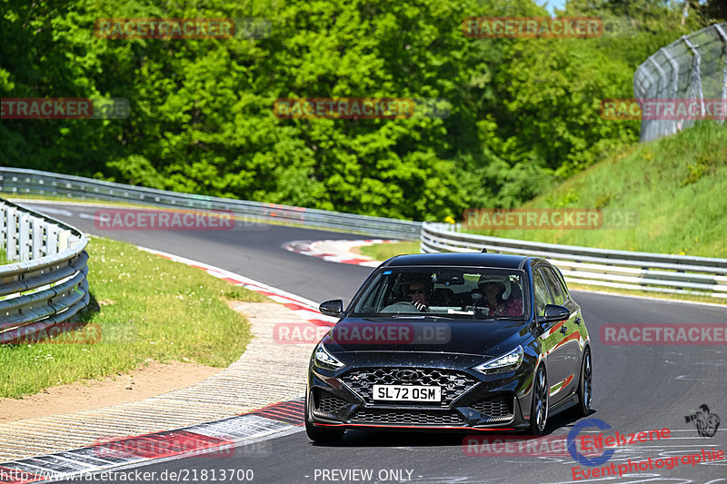
<svg viewBox="0 0 727 484">
<path fill-rule="evenodd" d="M 354 213 L 328 212 L 276 203 L 248 202 L 230 198 L 167 192 L 154 188 L 105 182 L 80 176 L 0 167 L 0 192 L 62 196 L 75 200 L 142 203 L 197 210 L 232 212 L 258 221 L 294 222 L 312 227 L 359 232 L 375 237 L 415 240 L 422 222 Z"/>
</svg>

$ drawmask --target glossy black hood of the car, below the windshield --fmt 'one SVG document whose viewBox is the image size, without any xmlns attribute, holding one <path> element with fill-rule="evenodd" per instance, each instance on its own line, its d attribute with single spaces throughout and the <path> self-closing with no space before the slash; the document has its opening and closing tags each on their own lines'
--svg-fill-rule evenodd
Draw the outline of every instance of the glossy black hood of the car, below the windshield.
<svg viewBox="0 0 727 484">
<path fill-rule="evenodd" d="M 450 353 L 500 356 L 523 344 L 527 321 L 348 318 L 323 339 L 333 354 L 347 352 Z"/>
</svg>

